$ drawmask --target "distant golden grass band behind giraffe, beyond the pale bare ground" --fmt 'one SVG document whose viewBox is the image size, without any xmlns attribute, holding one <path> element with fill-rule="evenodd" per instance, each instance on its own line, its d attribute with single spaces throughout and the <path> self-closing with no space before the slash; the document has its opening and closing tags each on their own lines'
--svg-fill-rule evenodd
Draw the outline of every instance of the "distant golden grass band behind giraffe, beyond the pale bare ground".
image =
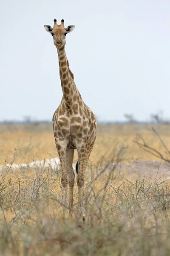
<svg viewBox="0 0 170 256">
<path fill-rule="evenodd" d="M 170 148 L 170 129 L 167 125 L 155 125 L 162 139 Z M 158 137 L 153 133 L 151 125 L 99 125 L 94 149 L 90 160 L 97 163 L 101 157 L 110 156 L 114 150 L 124 146 L 123 161 L 154 160 L 156 157 L 142 151 L 133 143 L 136 134 L 141 134 L 147 143 L 164 154 L 164 148 Z M 43 160 L 44 158 L 58 157 L 52 125 L 1 125 L 0 127 L 0 164 L 4 164 L 6 157 L 10 163 L 14 158 L 15 163 Z M 114 153 L 114 152 L 113 152 Z M 74 160 L 77 160 L 75 151 Z"/>
</svg>

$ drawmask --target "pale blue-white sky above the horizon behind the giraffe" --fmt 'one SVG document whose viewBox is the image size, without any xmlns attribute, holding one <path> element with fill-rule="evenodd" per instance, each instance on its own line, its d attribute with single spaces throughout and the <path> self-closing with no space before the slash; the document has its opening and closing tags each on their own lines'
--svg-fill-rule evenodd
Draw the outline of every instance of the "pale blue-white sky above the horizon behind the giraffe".
<svg viewBox="0 0 170 256">
<path fill-rule="evenodd" d="M 75 25 L 65 46 L 99 120 L 170 117 L 169 0 L 2 0 L 0 120 L 51 120 L 62 98 L 57 49 L 44 25 Z"/>
</svg>

